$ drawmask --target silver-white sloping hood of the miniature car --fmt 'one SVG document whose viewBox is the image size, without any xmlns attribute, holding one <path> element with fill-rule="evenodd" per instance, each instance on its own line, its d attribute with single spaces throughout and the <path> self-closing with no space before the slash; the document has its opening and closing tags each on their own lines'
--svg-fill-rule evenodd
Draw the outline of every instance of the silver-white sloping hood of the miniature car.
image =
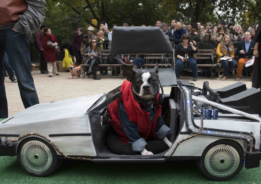
<svg viewBox="0 0 261 184">
<path fill-rule="evenodd" d="M 74 99 L 40 103 L 4 119 L 0 122 L 0 127 L 14 124 L 46 122 L 83 115 L 88 108 L 103 95 L 104 94 L 97 94 Z"/>
</svg>

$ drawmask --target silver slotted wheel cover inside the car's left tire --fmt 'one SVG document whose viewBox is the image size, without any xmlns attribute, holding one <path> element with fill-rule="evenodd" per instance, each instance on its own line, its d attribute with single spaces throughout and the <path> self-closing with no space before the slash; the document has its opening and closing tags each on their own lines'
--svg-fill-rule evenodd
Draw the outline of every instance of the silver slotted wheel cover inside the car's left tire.
<svg viewBox="0 0 261 184">
<path fill-rule="evenodd" d="M 21 149 L 23 165 L 32 172 L 45 172 L 52 165 L 52 152 L 41 141 L 26 142 Z"/>
</svg>

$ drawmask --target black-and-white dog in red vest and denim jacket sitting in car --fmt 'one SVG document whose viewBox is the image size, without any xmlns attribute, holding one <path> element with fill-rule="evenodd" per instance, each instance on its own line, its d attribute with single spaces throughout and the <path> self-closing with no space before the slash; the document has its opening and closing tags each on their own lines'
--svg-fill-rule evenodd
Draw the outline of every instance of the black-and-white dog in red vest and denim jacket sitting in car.
<svg viewBox="0 0 261 184">
<path fill-rule="evenodd" d="M 144 149 L 148 134 L 154 137 L 154 139 L 163 140 L 168 147 L 171 147 L 172 143 L 166 135 L 171 134 L 172 131 L 164 125 L 160 115 L 158 63 L 156 63 L 155 68 L 151 72 L 135 72 L 127 65 L 122 65 L 122 69 L 127 77 L 127 80 L 121 86 L 122 97 L 109 105 L 110 122 L 118 137 L 123 143 L 134 142 L 132 144 L 133 151 L 139 151 L 142 155 L 153 155 L 152 152 Z M 137 105 L 137 102 L 140 105 Z M 122 103 L 124 106 L 122 106 Z M 120 106 L 119 110 L 118 106 Z M 142 106 L 144 107 L 143 109 L 141 108 Z M 121 109 L 124 110 L 122 111 Z M 126 117 L 126 115 L 123 115 L 124 113 L 128 116 L 126 119 L 124 119 Z M 154 116 L 150 119 L 149 115 L 152 114 Z M 132 123 L 130 124 L 129 121 Z M 122 124 L 124 124 L 125 128 L 122 127 Z M 137 134 L 138 136 L 136 136 Z M 138 140 L 139 136 L 144 138 L 144 140 Z M 137 145 L 139 146 L 137 147 Z"/>
</svg>

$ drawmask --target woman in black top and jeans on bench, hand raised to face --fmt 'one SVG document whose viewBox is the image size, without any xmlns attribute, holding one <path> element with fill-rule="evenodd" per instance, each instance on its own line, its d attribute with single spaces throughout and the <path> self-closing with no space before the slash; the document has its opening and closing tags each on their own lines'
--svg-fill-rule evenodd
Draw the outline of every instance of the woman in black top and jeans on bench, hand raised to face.
<svg viewBox="0 0 261 184">
<path fill-rule="evenodd" d="M 197 81 L 197 62 L 194 58 L 194 54 L 198 52 L 198 49 L 193 45 L 188 34 L 184 34 L 181 37 L 181 43 L 178 44 L 175 50 L 175 74 L 176 78 L 180 78 L 180 72 L 183 67 L 189 65 L 193 73 L 193 81 Z"/>
</svg>

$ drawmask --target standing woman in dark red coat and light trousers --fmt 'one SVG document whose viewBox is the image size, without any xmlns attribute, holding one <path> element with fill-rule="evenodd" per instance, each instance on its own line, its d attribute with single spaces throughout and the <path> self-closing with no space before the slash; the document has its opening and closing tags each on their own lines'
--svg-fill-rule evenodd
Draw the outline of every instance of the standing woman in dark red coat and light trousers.
<svg viewBox="0 0 261 184">
<path fill-rule="evenodd" d="M 52 77 L 52 73 L 59 75 L 56 67 L 56 51 L 57 40 L 55 35 L 52 35 L 50 28 L 44 28 L 43 33 L 43 49 L 44 49 L 44 60 L 47 62 L 47 70 L 49 77 Z"/>
</svg>

